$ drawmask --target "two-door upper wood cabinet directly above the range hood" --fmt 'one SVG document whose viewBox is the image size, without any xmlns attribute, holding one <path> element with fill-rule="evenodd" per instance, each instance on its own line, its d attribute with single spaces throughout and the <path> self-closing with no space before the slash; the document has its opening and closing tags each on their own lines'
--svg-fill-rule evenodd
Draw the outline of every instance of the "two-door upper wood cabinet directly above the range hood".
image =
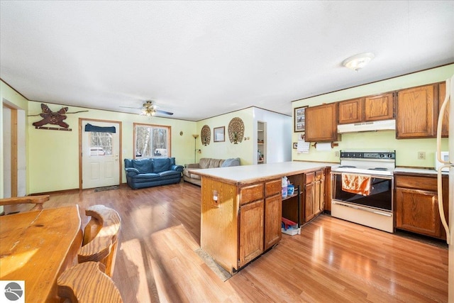
<svg viewBox="0 0 454 303">
<path fill-rule="evenodd" d="M 358 123 L 394 118 L 394 93 L 338 102 L 338 123 Z"/>
</svg>

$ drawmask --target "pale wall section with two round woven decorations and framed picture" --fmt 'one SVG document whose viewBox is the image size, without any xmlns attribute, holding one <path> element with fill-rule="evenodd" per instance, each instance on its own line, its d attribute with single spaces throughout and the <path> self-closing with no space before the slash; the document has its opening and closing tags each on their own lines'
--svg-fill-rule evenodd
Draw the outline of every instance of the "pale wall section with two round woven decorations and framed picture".
<svg viewBox="0 0 454 303">
<path fill-rule="evenodd" d="M 196 139 L 196 149 L 200 149 L 201 153 L 196 153 L 196 162 L 199 162 L 200 158 L 216 158 L 216 159 L 226 159 L 226 158 L 240 158 L 241 165 L 250 165 L 253 164 L 253 150 L 255 150 L 253 145 L 253 125 L 254 125 L 254 110 L 252 107 L 248 109 L 242 109 L 240 111 L 235 111 L 229 114 L 223 114 L 221 116 L 216 116 L 209 119 L 204 119 L 197 122 L 197 131 L 194 134 L 199 134 L 199 138 Z M 238 144 L 233 144 L 228 138 L 228 123 L 231 119 L 238 117 L 243 120 L 245 129 L 244 137 L 249 137 L 249 140 L 240 142 Z M 201 144 L 201 128 L 204 125 L 208 125 L 211 130 L 211 140 L 209 145 Z M 225 126 L 225 138 L 224 142 L 214 142 L 213 128 Z M 194 138 L 192 139 L 192 147 L 194 147 Z M 192 152 L 192 162 L 194 162 L 194 148 Z"/>
</svg>

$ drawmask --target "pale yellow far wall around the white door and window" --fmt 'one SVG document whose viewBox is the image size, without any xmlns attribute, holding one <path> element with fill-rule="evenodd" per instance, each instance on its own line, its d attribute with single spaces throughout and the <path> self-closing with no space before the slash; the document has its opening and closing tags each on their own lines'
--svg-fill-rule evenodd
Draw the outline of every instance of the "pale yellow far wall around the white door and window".
<svg viewBox="0 0 454 303">
<path fill-rule="evenodd" d="M 40 102 L 30 101 L 29 114 L 39 114 L 41 112 L 40 105 Z M 48 106 L 52 111 L 58 111 L 63 107 L 57 104 L 48 104 Z M 83 109 L 74 106 L 70 106 L 68 113 L 84 110 L 88 110 L 88 112 L 67 114 L 65 122 L 70 125 L 72 131 L 36 129 L 32 123 L 40 121 L 40 117 L 29 117 L 28 173 L 30 177 L 28 182 L 31 193 L 79 188 L 79 118 L 121 122 L 122 164 L 124 158 L 133 157 L 133 123 L 170 126 L 172 128 L 171 156 L 175 157 L 175 161 L 180 165 L 191 159 L 190 146 L 192 140 L 194 140 L 191 134 L 196 125 L 192 121 Z M 183 132 L 182 136 L 179 135 L 180 131 Z M 122 173 L 123 182 L 126 182 L 124 170 L 122 170 Z"/>
</svg>

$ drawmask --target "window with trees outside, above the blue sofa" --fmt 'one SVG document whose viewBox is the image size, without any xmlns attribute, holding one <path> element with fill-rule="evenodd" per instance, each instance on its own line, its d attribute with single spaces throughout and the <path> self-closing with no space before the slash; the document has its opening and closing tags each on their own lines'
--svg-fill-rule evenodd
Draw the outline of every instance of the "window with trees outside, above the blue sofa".
<svg viewBox="0 0 454 303">
<path fill-rule="evenodd" d="M 135 158 L 170 157 L 170 126 L 134 123 Z"/>
</svg>

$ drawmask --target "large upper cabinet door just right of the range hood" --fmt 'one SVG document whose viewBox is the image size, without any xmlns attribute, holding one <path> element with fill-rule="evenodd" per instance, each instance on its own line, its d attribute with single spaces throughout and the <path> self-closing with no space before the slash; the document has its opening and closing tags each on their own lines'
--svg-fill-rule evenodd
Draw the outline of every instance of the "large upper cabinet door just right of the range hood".
<svg viewBox="0 0 454 303">
<path fill-rule="evenodd" d="M 402 89 L 397 93 L 396 138 L 435 136 L 435 87 L 437 84 Z"/>
</svg>

